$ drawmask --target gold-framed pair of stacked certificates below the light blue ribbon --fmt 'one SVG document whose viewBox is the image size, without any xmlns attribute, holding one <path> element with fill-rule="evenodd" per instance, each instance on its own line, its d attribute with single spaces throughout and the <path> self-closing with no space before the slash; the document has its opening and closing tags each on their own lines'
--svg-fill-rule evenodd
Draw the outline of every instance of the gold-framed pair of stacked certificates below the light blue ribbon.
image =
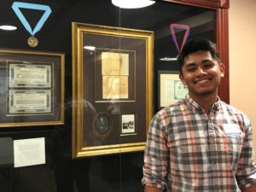
<svg viewBox="0 0 256 192">
<path fill-rule="evenodd" d="M 64 54 L 0 49 L 0 127 L 64 124 Z"/>
</svg>

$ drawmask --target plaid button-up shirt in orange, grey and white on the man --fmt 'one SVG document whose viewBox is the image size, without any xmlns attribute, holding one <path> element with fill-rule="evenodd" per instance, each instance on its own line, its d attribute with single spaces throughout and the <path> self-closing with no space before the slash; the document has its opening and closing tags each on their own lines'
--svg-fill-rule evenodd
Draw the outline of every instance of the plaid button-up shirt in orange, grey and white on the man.
<svg viewBox="0 0 256 192">
<path fill-rule="evenodd" d="M 154 115 L 143 184 L 172 192 L 241 191 L 256 183 L 250 120 L 219 101 L 209 116 L 189 95 Z"/>
</svg>

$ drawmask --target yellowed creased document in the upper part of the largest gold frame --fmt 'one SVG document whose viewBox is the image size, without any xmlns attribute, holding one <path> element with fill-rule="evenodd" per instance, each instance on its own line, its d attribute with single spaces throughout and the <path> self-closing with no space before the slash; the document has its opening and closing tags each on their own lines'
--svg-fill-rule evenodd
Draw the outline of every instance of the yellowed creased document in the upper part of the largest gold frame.
<svg viewBox="0 0 256 192">
<path fill-rule="evenodd" d="M 96 102 L 135 100 L 135 50 L 96 49 Z"/>
</svg>

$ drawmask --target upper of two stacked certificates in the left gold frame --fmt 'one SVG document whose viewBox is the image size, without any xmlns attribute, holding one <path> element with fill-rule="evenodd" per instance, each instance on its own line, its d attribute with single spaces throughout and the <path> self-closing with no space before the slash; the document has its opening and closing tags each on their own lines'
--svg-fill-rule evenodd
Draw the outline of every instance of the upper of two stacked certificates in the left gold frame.
<svg viewBox="0 0 256 192">
<path fill-rule="evenodd" d="M 9 87 L 50 87 L 52 63 L 9 62 Z"/>
</svg>

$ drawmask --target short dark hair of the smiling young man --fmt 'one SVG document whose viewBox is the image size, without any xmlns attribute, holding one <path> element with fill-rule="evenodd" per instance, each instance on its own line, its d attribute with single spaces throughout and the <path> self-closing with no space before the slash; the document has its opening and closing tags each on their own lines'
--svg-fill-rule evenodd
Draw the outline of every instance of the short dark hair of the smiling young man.
<svg viewBox="0 0 256 192">
<path fill-rule="evenodd" d="M 180 73 L 182 73 L 182 67 L 184 64 L 185 57 L 199 50 L 210 51 L 212 58 L 217 60 L 218 64 L 221 63 L 220 57 L 218 55 L 218 51 L 216 50 L 215 45 L 212 44 L 212 41 L 210 41 L 207 38 L 191 38 L 183 46 L 181 53 L 177 56 L 177 63 L 178 63 Z"/>
</svg>

